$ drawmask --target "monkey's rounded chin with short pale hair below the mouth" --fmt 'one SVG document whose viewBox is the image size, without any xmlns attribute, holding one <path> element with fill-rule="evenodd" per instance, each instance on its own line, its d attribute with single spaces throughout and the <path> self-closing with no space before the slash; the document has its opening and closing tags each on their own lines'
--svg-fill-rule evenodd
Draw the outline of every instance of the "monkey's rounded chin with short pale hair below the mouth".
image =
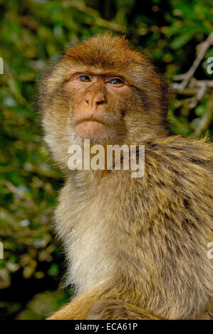
<svg viewBox="0 0 213 334">
<path fill-rule="evenodd" d="M 76 125 L 75 131 L 81 139 L 90 139 L 96 143 L 103 143 L 108 140 L 107 126 L 100 122 L 81 122 Z"/>
</svg>

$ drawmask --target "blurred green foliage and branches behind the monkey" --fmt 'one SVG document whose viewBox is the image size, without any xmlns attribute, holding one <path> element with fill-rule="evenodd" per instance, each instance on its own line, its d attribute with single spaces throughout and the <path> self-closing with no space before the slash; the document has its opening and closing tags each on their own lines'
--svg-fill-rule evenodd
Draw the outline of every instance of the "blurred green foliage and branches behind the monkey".
<svg viewBox="0 0 213 334">
<path fill-rule="evenodd" d="M 43 319 L 72 295 L 51 229 L 63 176 L 43 144 L 36 86 L 69 43 L 122 33 L 172 87 L 169 120 L 213 136 L 210 0 L 0 0 L 0 318 Z M 213 58 L 212 58 L 213 63 Z"/>
</svg>

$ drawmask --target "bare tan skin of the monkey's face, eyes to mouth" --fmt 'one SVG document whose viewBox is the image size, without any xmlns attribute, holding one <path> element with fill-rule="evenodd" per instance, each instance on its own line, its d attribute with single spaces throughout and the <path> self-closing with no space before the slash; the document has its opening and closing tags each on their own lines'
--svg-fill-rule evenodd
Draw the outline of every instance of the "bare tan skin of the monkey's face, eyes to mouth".
<svg viewBox="0 0 213 334">
<path fill-rule="evenodd" d="M 129 95 L 130 85 L 113 73 L 74 72 L 65 90 L 73 96 L 72 116 L 76 134 L 81 139 L 108 138 L 110 114 L 120 95 Z M 106 119 L 105 115 L 108 115 Z M 113 123 L 113 122 L 112 122 Z"/>
</svg>

